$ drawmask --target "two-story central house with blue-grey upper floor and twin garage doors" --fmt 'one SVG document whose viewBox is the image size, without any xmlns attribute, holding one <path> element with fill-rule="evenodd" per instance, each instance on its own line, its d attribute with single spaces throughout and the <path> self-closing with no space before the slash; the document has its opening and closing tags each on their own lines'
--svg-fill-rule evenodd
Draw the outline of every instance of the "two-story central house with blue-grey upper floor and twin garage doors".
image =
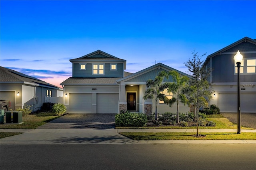
<svg viewBox="0 0 256 170">
<path fill-rule="evenodd" d="M 150 114 L 155 110 L 155 99 L 143 99 L 146 81 L 155 79 L 162 70 L 175 70 L 158 63 L 137 73 L 128 73 L 124 71 L 126 60 L 100 50 L 70 59 L 70 62 L 72 77 L 60 84 L 64 87 L 67 113 L 120 113 L 124 110 Z M 171 93 L 164 93 L 172 97 Z M 158 101 L 157 107 L 158 113 L 176 112 L 176 107 L 170 108 L 162 101 Z M 180 104 L 180 112 L 188 111 L 189 107 Z"/>
</svg>

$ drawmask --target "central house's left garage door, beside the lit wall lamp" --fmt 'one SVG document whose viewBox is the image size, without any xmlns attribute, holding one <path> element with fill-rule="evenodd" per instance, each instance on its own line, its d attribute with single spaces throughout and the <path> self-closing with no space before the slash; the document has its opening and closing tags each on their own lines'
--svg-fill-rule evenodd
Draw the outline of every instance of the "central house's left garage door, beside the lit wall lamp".
<svg viewBox="0 0 256 170">
<path fill-rule="evenodd" d="M 92 113 L 92 94 L 72 94 L 68 113 Z"/>
</svg>

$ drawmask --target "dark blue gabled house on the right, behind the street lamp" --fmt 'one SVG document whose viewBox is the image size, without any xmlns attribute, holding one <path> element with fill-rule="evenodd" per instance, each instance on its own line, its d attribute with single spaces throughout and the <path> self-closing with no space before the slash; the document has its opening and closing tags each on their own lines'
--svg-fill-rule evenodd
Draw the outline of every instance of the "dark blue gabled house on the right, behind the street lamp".
<svg viewBox="0 0 256 170">
<path fill-rule="evenodd" d="M 256 40 L 245 37 L 208 55 L 204 66 L 212 68 L 210 83 L 214 89 L 210 104 L 221 112 L 237 112 L 237 67 L 234 56 L 243 55 L 240 67 L 241 112 L 256 113 Z M 213 95 L 214 95 L 213 94 Z"/>
</svg>

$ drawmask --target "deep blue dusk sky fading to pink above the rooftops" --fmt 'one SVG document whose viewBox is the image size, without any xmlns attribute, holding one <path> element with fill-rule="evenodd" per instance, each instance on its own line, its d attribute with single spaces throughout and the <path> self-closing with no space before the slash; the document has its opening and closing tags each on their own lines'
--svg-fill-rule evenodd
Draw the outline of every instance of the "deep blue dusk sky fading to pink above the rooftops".
<svg viewBox="0 0 256 170">
<path fill-rule="evenodd" d="M 98 49 L 135 73 L 163 63 L 187 73 L 245 36 L 256 39 L 256 1 L 0 1 L 0 65 L 58 85 L 70 59 Z"/>
</svg>

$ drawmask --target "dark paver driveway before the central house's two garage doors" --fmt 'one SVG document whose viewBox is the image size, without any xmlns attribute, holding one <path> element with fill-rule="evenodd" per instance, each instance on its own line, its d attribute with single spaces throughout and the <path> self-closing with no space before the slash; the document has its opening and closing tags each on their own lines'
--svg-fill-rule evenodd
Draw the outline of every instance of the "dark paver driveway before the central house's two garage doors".
<svg viewBox="0 0 256 170">
<path fill-rule="evenodd" d="M 37 129 L 114 129 L 116 114 L 67 114 Z"/>
</svg>

